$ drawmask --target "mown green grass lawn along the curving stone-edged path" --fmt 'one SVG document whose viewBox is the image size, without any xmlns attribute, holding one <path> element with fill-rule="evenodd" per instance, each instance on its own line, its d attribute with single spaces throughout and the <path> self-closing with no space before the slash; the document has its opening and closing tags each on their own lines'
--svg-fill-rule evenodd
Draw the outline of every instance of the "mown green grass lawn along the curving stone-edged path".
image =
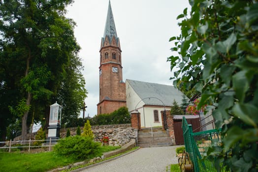
<svg viewBox="0 0 258 172">
<path fill-rule="evenodd" d="M 119 146 L 101 146 L 100 151 L 108 152 L 117 148 Z M 57 156 L 54 152 L 0 152 L 1 172 L 46 172 L 75 162 L 69 157 Z"/>
</svg>

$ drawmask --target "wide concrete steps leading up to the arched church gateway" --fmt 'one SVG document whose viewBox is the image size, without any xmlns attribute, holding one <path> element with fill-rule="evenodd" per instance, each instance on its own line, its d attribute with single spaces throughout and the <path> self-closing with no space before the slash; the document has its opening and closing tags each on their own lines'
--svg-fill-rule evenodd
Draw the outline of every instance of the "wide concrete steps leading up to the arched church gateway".
<svg viewBox="0 0 258 172">
<path fill-rule="evenodd" d="M 143 129 L 138 132 L 138 146 L 140 147 L 155 147 L 155 146 L 170 146 L 172 141 L 169 135 L 162 128 Z"/>
</svg>

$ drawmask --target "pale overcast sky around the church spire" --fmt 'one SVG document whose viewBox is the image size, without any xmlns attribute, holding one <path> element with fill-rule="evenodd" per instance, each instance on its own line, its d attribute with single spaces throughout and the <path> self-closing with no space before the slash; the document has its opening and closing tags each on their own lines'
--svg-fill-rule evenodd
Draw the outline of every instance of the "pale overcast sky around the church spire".
<svg viewBox="0 0 258 172">
<path fill-rule="evenodd" d="M 117 36 L 122 49 L 123 80 L 172 85 L 169 42 L 180 34 L 176 17 L 189 7 L 188 0 L 110 0 Z M 97 114 L 99 102 L 99 50 L 103 37 L 108 0 L 75 0 L 67 17 L 77 26 L 75 37 L 81 47 L 88 97 L 85 115 Z M 190 8 L 188 8 L 190 9 Z"/>
</svg>

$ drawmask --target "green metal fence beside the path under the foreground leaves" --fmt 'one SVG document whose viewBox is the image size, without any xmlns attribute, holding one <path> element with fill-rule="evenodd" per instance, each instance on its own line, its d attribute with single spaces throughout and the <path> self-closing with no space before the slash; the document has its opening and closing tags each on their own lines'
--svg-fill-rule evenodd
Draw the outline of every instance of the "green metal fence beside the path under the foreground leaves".
<svg viewBox="0 0 258 172">
<path fill-rule="evenodd" d="M 194 172 L 216 172 L 214 162 L 202 158 L 207 154 L 210 145 L 220 143 L 220 132 L 208 130 L 194 133 L 192 125 L 187 123 L 185 117 L 183 117 L 182 129 L 186 151 L 194 165 Z"/>
</svg>

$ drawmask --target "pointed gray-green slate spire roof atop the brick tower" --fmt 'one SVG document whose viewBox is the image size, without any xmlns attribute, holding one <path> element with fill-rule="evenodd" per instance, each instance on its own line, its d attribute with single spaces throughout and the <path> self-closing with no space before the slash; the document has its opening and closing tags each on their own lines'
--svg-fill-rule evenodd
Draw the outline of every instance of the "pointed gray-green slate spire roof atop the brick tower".
<svg viewBox="0 0 258 172">
<path fill-rule="evenodd" d="M 106 36 L 108 36 L 109 42 L 111 42 L 112 41 L 111 39 L 113 38 L 113 36 L 115 36 L 116 41 L 118 43 L 117 31 L 116 31 L 116 26 L 115 26 L 110 0 L 108 4 L 107 19 L 106 19 L 103 39 L 105 39 Z"/>
</svg>

